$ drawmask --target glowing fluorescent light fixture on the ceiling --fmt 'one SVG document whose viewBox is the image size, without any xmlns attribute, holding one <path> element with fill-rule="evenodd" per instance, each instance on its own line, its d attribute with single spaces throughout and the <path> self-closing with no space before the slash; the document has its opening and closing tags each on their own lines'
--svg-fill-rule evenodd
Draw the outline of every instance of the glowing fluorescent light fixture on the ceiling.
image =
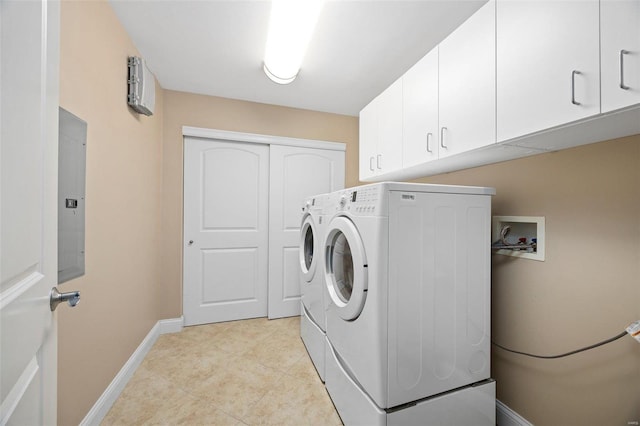
<svg viewBox="0 0 640 426">
<path fill-rule="evenodd" d="M 322 5 L 322 0 L 272 1 L 264 55 L 264 72 L 271 80 L 295 80 Z"/>
</svg>

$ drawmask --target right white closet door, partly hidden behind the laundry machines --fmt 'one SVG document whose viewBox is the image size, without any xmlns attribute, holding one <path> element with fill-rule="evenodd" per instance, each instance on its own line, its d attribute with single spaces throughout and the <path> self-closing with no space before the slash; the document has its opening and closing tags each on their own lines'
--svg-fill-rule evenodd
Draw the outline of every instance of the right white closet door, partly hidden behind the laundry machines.
<svg viewBox="0 0 640 426">
<path fill-rule="evenodd" d="M 298 243 L 303 202 L 342 188 L 344 151 L 271 145 L 269 318 L 300 315 Z"/>
</svg>

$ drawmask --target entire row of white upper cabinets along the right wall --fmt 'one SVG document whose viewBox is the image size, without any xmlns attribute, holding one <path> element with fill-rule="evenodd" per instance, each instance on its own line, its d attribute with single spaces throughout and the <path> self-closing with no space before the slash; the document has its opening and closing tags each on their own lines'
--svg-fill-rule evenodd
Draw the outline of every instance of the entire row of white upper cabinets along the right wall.
<svg viewBox="0 0 640 426">
<path fill-rule="evenodd" d="M 639 114 L 640 0 L 489 0 L 360 112 L 360 179 L 634 135 Z"/>
</svg>

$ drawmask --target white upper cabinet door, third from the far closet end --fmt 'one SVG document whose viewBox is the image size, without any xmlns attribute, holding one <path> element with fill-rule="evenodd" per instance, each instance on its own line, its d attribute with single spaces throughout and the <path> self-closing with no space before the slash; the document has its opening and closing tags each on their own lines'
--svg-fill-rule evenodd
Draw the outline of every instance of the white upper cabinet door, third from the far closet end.
<svg viewBox="0 0 640 426">
<path fill-rule="evenodd" d="M 438 158 L 438 47 L 402 77 L 402 167 Z"/>
</svg>

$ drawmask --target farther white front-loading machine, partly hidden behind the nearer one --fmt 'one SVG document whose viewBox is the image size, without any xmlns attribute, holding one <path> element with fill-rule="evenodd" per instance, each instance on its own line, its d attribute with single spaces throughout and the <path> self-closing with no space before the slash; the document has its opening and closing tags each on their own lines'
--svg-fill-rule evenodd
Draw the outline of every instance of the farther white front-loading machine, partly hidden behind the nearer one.
<svg viewBox="0 0 640 426">
<path fill-rule="evenodd" d="M 322 202 L 326 195 L 308 198 L 302 207 L 300 226 L 300 337 L 324 382 L 326 317 L 324 262 L 322 261 Z"/>
</svg>

